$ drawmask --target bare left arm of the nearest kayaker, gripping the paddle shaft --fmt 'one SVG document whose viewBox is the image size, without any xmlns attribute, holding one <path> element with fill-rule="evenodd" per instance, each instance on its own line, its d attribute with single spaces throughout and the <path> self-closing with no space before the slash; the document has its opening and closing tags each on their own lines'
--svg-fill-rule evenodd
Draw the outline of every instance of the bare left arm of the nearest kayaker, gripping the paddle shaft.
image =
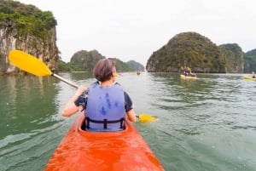
<svg viewBox="0 0 256 171">
<path fill-rule="evenodd" d="M 70 117 L 76 112 L 79 111 L 80 106 L 75 105 L 75 101 L 79 99 L 79 96 L 84 93 L 86 88 L 84 86 L 79 86 L 76 94 L 73 95 L 73 97 L 67 102 L 64 109 L 61 111 L 61 115 L 63 117 Z"/>
</svg>

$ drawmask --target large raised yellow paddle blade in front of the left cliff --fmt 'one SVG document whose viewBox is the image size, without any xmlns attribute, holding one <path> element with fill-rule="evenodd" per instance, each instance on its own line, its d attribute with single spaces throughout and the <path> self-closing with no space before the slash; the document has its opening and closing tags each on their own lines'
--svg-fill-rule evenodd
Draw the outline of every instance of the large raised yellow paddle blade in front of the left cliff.
<svg viewBox="0 0 256 171">
<path fill-rule="evenodd" d="M 20 50 L 12 50 L 9 53 L 9 61 L 20 69 L 32 73 L 36 76 L 50 76 L 52 72 L 49 71 L 48 66 L 42 60 L 26 54 Z"/>
</svg>

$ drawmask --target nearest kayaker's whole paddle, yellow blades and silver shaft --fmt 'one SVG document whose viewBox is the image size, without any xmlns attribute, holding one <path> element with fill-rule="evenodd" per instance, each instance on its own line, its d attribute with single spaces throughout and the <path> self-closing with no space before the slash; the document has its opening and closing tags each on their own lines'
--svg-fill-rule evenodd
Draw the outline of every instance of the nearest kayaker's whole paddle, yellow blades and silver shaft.
<svg viewBox="0 0 256 171">
<path fill-rule="evenodd" d="M 32 56 L 31 54 L 26 54 L 23 51 L 20 50 L 12 50 L 9 53 L 9 61 L 14 65 L 19 67 L 20 69 L 27 71 L 33 75 L 36 76 L 53 76 L 58 78 L 64 83 L 67 83 L 68 85 L 72 86 L 73 88 L 79 88 L 78 85 L 69 82 L 67 79 L 58 76 L 57 74 L 53 73 L 49 70 L 48 66 L 44 64 L 42 60 L 39 60 L 37 57 Z M 138 117 L 140 122 L 149 122 L 149 121 L 155 121 L 156 118 L 152 117 L 148 114 L 142 114 Z"/>
</svg>

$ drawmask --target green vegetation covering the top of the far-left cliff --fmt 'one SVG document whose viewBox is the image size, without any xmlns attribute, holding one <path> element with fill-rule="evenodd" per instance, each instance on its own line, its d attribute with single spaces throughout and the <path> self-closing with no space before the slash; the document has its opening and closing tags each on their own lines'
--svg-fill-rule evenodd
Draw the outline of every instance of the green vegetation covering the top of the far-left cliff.
<svg viewBox="0 0 256 171">
<path fill-rule="evenodd" d="M 18 36 L 31 34 L 44 37 L 50 28 L 57 25 L 50 11 L 41 11 L 33 5 L 25 5 L 12 0 L 0 1 L 0 26 L 13 26 Z"/>
</svg>

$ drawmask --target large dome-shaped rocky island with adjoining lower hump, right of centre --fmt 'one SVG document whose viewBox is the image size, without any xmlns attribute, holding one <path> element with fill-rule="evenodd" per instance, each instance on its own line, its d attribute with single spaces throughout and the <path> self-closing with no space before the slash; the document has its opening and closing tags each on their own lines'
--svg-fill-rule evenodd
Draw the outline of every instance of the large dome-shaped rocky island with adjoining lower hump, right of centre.
<svg viewBox="0 0 256 171">
<path fill-rule="evenodd" d="M 243 52 L 235 44 L 217 46 L 196 32 L 177 34 L 148 59 L 147 71 L 181 71 L 188 67 L 196 72 L 241 73 Z"/>
</svg>

